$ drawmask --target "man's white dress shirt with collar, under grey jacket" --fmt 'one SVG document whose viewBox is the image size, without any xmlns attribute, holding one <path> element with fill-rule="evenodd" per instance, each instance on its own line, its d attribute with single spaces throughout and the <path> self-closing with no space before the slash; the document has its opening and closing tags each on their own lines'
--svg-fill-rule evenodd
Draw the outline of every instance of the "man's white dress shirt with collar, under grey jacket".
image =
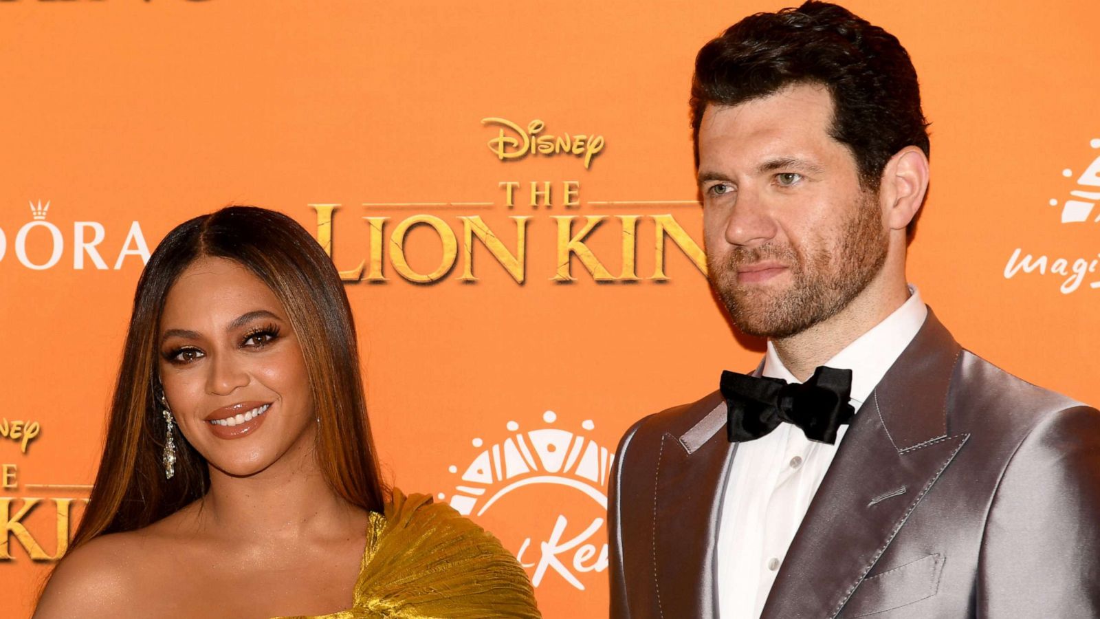
<svg viewBox="0 0 1100 619">
<path fill-rule="evenodd" d="M 861 335 L 824 365 L 851 370 L 851 405 L 859 406 L 909 346 L 928 310 L 910 285 L 910 297 L 893 314 Z M 771 341 L 763 376 L 794 378 Z M 718 523 L 717 587 L 722 619 L 758 619 L 768 593 L 802 518 L 848 426 L 836 445 L 806 438 L 802 430 L 781 423 L 767 436 L 739 443 L 726 482 Z"/>
</svg>

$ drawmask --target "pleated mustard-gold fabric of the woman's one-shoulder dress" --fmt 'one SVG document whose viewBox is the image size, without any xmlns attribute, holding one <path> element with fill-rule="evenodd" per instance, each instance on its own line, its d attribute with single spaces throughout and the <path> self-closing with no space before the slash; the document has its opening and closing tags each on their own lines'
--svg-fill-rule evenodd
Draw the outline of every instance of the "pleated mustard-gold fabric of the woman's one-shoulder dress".
<svg viewBox="0 0 1100 619">
<path fill-rule="evenodd" d="M 527 574 L 492 533 L 450 506 L 396 488 L 372 513 L 352 607 L 312 618 L 540 618 Z"/>
</svg>

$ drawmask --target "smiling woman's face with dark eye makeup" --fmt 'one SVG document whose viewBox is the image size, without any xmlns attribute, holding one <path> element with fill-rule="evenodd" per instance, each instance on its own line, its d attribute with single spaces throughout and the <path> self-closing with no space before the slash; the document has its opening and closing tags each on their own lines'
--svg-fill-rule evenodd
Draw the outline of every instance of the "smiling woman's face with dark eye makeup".
<svg viewBox="0 0 1100 619">
<path fill-rule="evenodd" d="M 316 422 L 306 365 L 283 304 L 258 278 L 200 258 L 168 291 L 161 383 L 187 441 L 233 476 L 311 453 Z"/>
</svg>

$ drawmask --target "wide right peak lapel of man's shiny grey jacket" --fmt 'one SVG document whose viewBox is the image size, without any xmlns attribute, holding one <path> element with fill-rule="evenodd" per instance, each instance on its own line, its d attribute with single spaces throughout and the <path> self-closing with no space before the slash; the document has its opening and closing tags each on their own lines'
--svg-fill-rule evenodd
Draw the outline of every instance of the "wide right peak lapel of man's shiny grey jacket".
<svg viewBox="0 0 1100 619">
<path fill-rule="evenodd" d="M 930 310 L 840 442 L 762 619 L 836 617 L 963 448 L 945 411 L 960 350 Z"/>
</svg>

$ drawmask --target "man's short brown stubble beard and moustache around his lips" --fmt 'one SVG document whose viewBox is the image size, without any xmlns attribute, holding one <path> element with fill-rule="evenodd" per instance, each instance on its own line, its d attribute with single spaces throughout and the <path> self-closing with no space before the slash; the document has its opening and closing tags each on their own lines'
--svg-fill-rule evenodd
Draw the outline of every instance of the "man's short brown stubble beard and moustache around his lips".
<svg viewBox="0 0 1100 619">
<path fill-rule="evenodd" d="M 707 256 L 707 271 L 711 285 L 737 328 L 752 336 L 783 338 L 847 307 L 882 269 L 888 250 L 889 234 L 882 227 L 877 196 L 867 192 L 856 217 L 840 231 L 835 256 L 821 245 L 811 256 L 801 254 L 790 245 L 734 247 L 721 263 Z M 773 291 L 736 283 L 738 265 L 762 260 L 788 265 L 792 280 L 788 289 Z"/>
</svg>

